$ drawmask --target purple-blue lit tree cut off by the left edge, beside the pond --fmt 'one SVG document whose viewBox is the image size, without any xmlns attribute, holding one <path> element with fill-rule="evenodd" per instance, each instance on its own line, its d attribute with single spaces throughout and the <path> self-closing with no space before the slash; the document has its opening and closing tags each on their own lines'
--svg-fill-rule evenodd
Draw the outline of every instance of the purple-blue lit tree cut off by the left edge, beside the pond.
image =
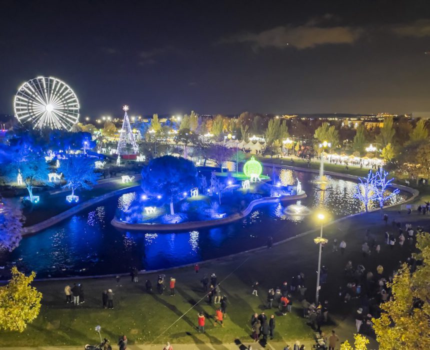
<svg viewBox="0 0 430 350">
<path fill-rule="evenodd" d="M 18 246 L 24 219 L 17 205 L 12 205 L 0 196 L 0 247 L 12 251 Z"/>
</svg>

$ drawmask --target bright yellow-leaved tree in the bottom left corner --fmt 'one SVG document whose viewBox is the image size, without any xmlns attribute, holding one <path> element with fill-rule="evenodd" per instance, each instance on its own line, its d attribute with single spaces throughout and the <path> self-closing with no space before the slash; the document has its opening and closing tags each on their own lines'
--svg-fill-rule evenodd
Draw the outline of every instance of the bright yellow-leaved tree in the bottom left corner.
<svg viewBox="0 0 430 350">
<path fill-rule="evenodd" d="M 34 271 L 26 276 L 13 266 L 11 273 L 9 283 L 0 287 L 0 329 L 22 332 L 39 314 L 42 293 L 30 285 Z"/>
</svg>

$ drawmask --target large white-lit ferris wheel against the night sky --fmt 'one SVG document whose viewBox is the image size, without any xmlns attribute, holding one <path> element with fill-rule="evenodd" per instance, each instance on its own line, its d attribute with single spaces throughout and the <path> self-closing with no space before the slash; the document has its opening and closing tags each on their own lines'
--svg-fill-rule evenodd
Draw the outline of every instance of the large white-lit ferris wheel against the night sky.
<svg viewBox="0 0 430 350">
<path fill-rule="evenodd" d="M 64 81 L 38 76 L 23 83 L 13 101 L 16 118 L 33 128 L 70 130 L 79 118 L 79 101 Z"/>
</svg>

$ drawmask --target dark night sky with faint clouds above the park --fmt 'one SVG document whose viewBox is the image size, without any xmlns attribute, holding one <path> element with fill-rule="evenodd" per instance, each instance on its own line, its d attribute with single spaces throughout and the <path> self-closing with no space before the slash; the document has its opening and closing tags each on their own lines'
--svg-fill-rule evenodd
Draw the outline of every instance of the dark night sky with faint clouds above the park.
<svg viewBox="0 0 430 350">
<path fill-rule="evenodd" d="M 6 113 L 38 75 L 82 116 L 430 111 L 430 1 L 0 0 L 0 28 Z"/>
</svg>

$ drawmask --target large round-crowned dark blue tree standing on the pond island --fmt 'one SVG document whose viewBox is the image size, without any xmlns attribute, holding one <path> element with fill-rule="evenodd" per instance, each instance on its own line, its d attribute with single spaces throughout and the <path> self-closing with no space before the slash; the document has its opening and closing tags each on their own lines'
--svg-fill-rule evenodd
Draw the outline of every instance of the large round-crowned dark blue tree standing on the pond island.
<svg viewBox="0 0 430 350">
<path fill-rule="evenodd" d="M 141 187 L 152 196 L 160 195 L 170 204 L 170 214 L 174 214 L 173 202 L 183 192 L 198 185 L 194 164 L 182 157 L 163 155 L 151 159 L 142 169 Z"/>
</svg>

